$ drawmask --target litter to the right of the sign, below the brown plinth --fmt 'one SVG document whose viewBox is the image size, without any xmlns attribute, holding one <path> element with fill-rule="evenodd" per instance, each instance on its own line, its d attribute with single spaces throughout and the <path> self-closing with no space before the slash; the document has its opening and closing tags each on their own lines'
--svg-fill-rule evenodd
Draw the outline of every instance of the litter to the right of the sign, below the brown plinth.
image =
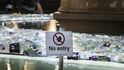
<svg viewBox="0 0 124 70">
<path fill-rule="evenodd" d="M 78 48 L 83 59 L 95 55 L 107 56 L 111 61 L 124 62 L 124 36 L 73 33 L 73 37 L 74 49 Z"/>
</svg>

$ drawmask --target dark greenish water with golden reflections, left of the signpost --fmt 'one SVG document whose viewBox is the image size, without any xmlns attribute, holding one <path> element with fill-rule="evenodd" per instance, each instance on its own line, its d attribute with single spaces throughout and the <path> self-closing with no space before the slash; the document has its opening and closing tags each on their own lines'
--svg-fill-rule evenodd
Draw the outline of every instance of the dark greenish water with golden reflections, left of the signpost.
<svg viewBox="0 0 124 70">
<path fill-rule="evenodd" d="M 0 70 L 54 70 L 55 65 L 35 60 L 0 58 Z"/>
</svg>

